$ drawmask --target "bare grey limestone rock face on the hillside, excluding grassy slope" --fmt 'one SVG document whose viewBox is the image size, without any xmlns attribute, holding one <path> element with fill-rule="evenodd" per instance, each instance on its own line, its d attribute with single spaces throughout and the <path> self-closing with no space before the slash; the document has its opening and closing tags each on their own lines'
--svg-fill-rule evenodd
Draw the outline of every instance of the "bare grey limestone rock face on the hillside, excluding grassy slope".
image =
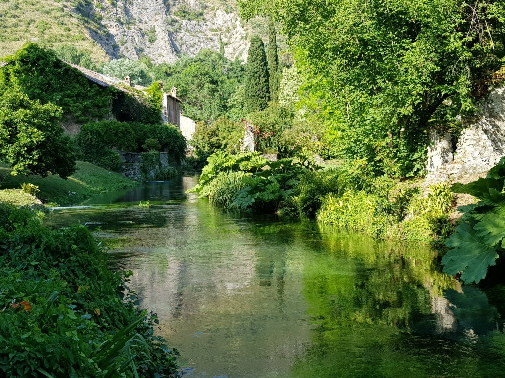
<svg viewBox="0 0 505 378">
<path fill-rule="evenodd" d="M 246 61 L 250 26 L 236 9 L 226 8 L 201 0 L 96 0 L 86 17 L 100 20 L 100 31 L 89 32 L 112 58 L 138 59 L 143 54 L 155 64 L 174 62 L 181 53 L 219 51 L 221 36 L 225 56 Z"/>
</svg>

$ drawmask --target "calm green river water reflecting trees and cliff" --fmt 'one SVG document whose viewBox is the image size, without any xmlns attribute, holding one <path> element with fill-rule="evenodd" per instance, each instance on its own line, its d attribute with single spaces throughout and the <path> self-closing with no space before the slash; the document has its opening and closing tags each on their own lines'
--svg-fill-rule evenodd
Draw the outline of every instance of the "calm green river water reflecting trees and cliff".
<svg viewBox="0 0 505 378">
<path fill-rule="evenodd" d="M 184 194 L 196 183 L 144 184 L 47 219 L 110 239 L 187 376 L 505 376 L 502 287 L 458 285 L 424 246 L 227 213 Z"/>
</svg>

